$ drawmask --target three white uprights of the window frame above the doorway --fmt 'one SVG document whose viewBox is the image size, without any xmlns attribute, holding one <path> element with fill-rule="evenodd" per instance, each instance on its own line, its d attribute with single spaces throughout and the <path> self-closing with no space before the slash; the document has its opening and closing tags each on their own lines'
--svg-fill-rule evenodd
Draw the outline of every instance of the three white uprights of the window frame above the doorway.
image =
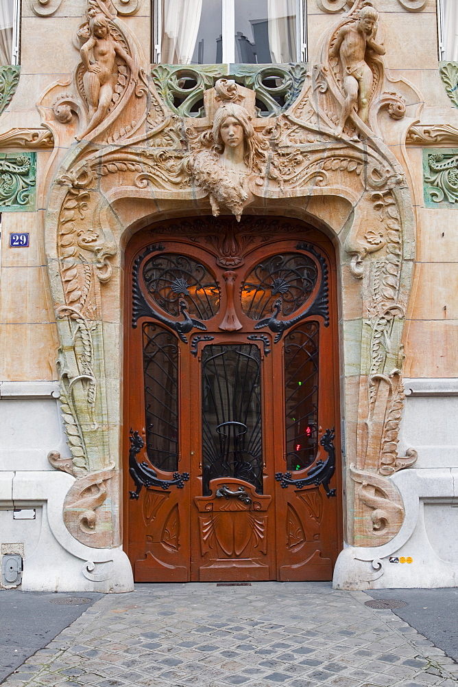
<svg viewBox="0 0 458 687">
<path fill-rule="evenodd" d="M 17 2 L 18 0 L 14 0 Z M 223 34 L 223 59 L 222 64 L 235 63 L 235 42 L 232 36 L 235 34 L 235 10 L 233 0 L 221 0 L 222 4 L 222 34 Z M 297 45 L 298 62 L 307 61 L 307 11 L 306 0 L 296 0 L 298 21 Z M 161 61 L 162 41 L 162 1 L 152 0 L 152 63 L 157 65 Z"/>
</svg>

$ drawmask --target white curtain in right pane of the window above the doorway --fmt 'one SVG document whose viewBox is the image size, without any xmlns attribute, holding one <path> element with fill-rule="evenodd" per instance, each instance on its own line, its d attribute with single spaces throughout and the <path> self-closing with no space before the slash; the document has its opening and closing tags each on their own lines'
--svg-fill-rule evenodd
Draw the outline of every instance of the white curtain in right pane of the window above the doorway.
<svg viewBox="0 0 458 687">
<path fill-rule="evenodd" d="M 269 48 L 273 63 L 296 62 L 297 0 L 268 0 Z"/>
</svg>

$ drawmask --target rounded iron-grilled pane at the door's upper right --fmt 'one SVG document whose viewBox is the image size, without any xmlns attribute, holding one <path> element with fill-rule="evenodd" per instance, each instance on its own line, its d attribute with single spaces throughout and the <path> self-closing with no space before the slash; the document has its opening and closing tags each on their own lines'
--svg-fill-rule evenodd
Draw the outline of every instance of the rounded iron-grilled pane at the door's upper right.
<svg viewBox="0 0 458 687">
<path fill-rule="evenodd" d="M 271 313 L 278 297 L 283 315 L 292 315 L 311 295 L 318 271 L 309 256 L 284 253 L 258 262 L 242 284 L 242 308 L 251 319 Z"/>
</svg>

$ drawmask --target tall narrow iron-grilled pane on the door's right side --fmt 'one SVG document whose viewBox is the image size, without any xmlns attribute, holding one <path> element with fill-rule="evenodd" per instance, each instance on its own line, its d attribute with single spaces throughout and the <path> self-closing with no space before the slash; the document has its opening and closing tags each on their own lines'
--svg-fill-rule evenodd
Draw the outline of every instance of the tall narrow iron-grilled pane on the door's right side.
<svg viewBox="0 0 458 687">
<path fill-rule="evenodd" d="M 306 322 L 285 337 L 287 469 L 313 463 L 318 446 L 318 343 L 320 326 Z"/>
</svg>

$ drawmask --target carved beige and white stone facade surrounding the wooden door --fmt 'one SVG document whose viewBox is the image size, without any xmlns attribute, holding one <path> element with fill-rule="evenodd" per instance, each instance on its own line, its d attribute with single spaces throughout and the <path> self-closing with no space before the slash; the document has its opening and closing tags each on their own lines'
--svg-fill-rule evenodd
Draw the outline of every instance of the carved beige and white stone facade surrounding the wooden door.
<svg viewBox="0 0 458 687">
<path fill-rule="evenodd" d="M 435 1 L 308 0 L 309 63 L 288 68 L 267 118 L 256 78 L 232 65 L 212 66 L 204 116 L 177 109 L 173 69 L 149 65 L 149 8 L 23 0 L 19 82 L 3 68 L 2 554 L 23 551 L 24 589 L 132 588 L 125 245 L 163 219 L 276 215 L 337 253 L 348 546 L 335 586 L 455 585 L 458 110 Z M 219 139 L 228 117 L 249 154 Z"/>
</svg>

